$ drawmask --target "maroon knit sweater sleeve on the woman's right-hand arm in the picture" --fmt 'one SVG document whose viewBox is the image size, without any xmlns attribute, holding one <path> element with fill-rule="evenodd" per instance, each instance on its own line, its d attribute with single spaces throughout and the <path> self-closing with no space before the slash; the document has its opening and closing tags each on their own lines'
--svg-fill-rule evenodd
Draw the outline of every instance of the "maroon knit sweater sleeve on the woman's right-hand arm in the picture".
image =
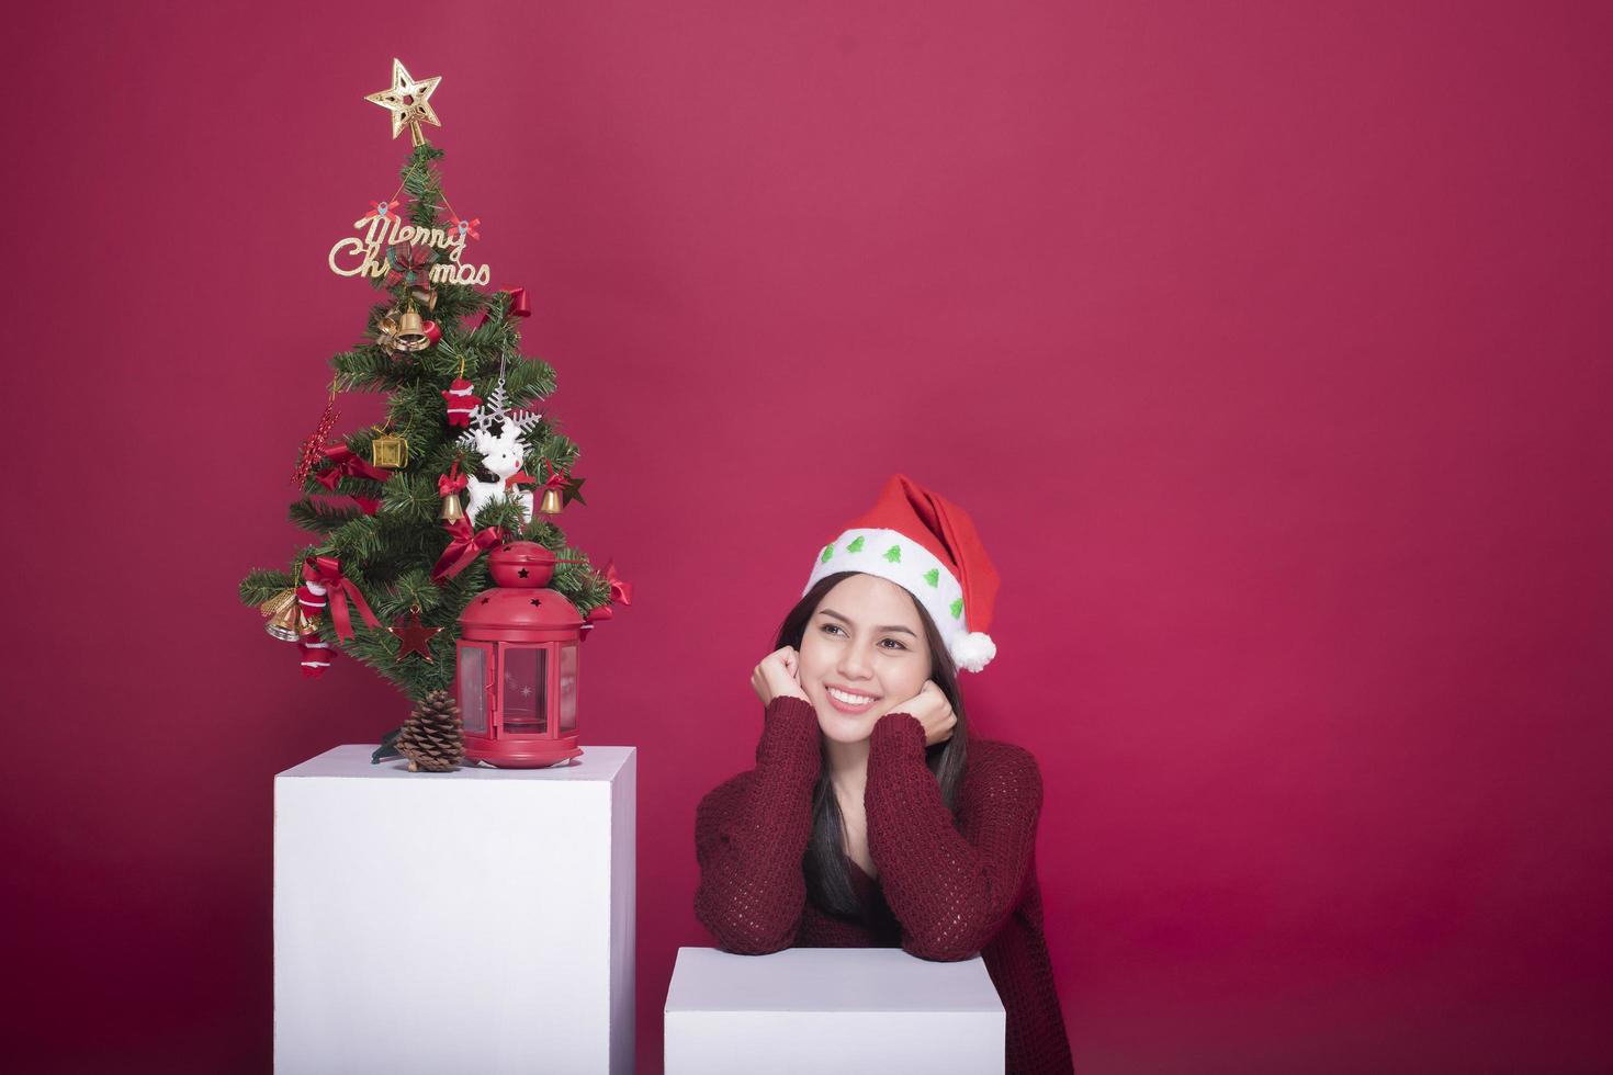
<svg viewBox="0 0 1613 1075">
<path fill-rule="evenodd" d="M 953 961 L 986 948 L 1031 872 L 1042 777 L 1029 751 L 989 746 L 969 759 L 960 830 L 924 766 L 924 727 L 902 712 L 874 725 L 863 795 L 868 851 L 913 956 Z"/>
</svg>

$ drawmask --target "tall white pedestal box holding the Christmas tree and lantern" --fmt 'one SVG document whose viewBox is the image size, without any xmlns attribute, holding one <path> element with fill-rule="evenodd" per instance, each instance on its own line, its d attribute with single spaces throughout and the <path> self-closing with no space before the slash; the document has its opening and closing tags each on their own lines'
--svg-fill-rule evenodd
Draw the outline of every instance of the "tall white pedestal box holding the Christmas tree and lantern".
<svg viewBox="0 0 1613 1075">
<path fill-rule="evenodd" d="M 274 1070 L 632 1072 L 637 754 L 274 778 Z"/>
</svg>

